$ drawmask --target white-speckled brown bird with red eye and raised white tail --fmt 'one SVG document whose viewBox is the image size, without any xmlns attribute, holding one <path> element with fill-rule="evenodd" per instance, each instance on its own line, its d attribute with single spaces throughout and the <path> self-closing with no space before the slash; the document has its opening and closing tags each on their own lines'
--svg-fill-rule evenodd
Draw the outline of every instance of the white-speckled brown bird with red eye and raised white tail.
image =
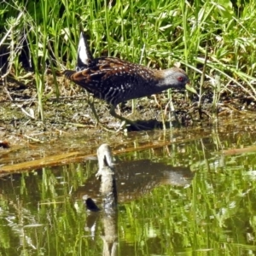
<svg viewBox="0 0 256 256">
<path fill-rule="evenodd" d="M 134 125 L 134 122 L 115 112 L 120 102 L 170 88 L 183 90 L 189 83 L 187 73 L 178 67 L 157 70 L 117 57 L 94 58 L 84 32 L 80 33 L 77 67 L 75 70 L 65 70 L 64 75 L 94 97 L 107 102 L 110 105 L 109 113 L 130 125 Z"/>
</svg>

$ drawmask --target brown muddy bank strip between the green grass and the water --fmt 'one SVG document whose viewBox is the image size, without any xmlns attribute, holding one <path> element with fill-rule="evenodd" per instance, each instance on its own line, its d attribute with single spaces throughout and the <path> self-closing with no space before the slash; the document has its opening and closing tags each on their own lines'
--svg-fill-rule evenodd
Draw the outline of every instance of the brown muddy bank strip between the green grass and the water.
<svg viewBox="0 0 256 256">
<path fill-rule="evenodd" d="M 71 84 L 60 76 L 57 78 L 60 90 L 60 97 L 57 99 L 51 75 L 45 77 L 44 121 L 42 121 L 38 112 L 37 90 L 33 75 L 19 81 L 9 77 L 5 82 L 0 84 L 0 158 L 8 152 L 6 151 L 8 148 L 17 150 L 27 147 L 28 144 L 29 147 L 36 143 L 55 144 L 60 138 L 79 137 L 81 134 L 102 137 L 102 134 L 106 133 L 105 128 L 119 131 L 121 134 L 137 128 L 131 125 L 127 126 L 125 131 L 119 130 L 121 122 L 109 114 L 108 104 L 95 99 L 96 113 L 102 124 L 98 125 L 88 103 L 92 97 L 78 85 Z M 256 119 L 255 102 L 235 85 L 230 84 L 219 94 L 216 111 L 212 109 L 212 96 L 212 87 L 206 84 L 201 108 L 198 108 L 199 101 L 195 94 L 188 96 L 186 91 L 172 91 L 172 104 L 169 104 L 167 92 L 164 92 L 157 96 L 137 99 L 134 113 L 132 113 L 131 101 L 120 104 L 116 111 L 127 119 L 143 124 L 146 130 L 163 129 L 164 125 L 166 128 L 171 125 L 206 127 L 216 123 L 216 120 L 223 122 L 230 116 Z M 112 136 L 113 140 L 114 137 L 118 139 L 118 136 Z"/>
</svg>

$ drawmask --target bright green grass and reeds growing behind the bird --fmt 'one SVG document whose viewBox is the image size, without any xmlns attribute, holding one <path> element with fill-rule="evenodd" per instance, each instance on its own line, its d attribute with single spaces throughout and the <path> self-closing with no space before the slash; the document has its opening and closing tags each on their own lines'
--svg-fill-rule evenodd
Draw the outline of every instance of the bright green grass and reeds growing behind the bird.
<svg viewBox="0 0 256 256">
<path fill-rule="evenodd" d="M 58 97 L 62 84 L 55 73 L 75 67 L 83 28 L 95 56 L 119 56 L 155 68 L 181 63 L 199 106 L 203 87 L 210 84 L 215 111 L 228 85 L 256 100 L 255 17 L 254 0 L 5 1 L 0 3 L 0 49 L 4 63 L 4 53 L 9 53 L 9 65 L 2 75 L 12 72 L 17 80 L 24 76 L 19 58 L 25 59 L 27 45 L 44 119 L 43 103 L 49 96 L 45 74 L 51 70 Z"/>
</svg>

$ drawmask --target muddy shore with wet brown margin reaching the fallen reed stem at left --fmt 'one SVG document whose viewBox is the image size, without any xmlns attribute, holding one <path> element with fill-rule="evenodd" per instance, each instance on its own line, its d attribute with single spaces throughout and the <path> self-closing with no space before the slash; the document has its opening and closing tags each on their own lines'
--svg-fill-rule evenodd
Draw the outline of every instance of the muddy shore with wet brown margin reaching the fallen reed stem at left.
<svg viewBox="0 0 256 256">
<path fill-rule="evenodd" d="M 52 86 L 45 87 L 44 122 L 38 115 L 37 94 L 33 79 L 27 84 L 11 80 L 7 86 L 0 85 L 0 165 L 73 152 L 83 143 L 86 143 L 87 149 L 95 149 L 103 142 L 122 145 L 123 136 L 127 131 L 114 134 L 102 130 L 102 127 L 96 125 L 96 119 L 87 102 L 86 91 L 75 84 L 67 83 L 62 77 L 58 79 L 61 92 L 58 100 L 54 96 Z M 50 79 L 47 81 L 49 82 L 47 84 L 50 84 Z M 166 128 L 172 124 L 173 127 L 183 129 L 192 127 L 199 130 L 211 127 L 217 123 L 217 120 L 222 124 L 238 117 L 239 122 L 246 123 L 247 120 L 252 122 L 256 119 L 255 102 L 238 88 L 235 89 L 236 87 L 232 86 L 232 93 L 226 90 L 221 94 L 218 103 L 218 119 L 212 114 L 210 87 L 205 88 L 201 109 L 197 107 L 196 96 L 188 98 L 186 91 L 173 91 L 174 111 L 170 111 L 170 104 L 167 105 L 169 102 L 167 94 L 162 93 L 137 99 L 134 113 L 131 108 L 132 102 L 125 102 L 119 106 L 119 113 L 128 119 L 154 120 L 151 128 L 156 130 L 162 129 L 163 118 L 166 119 Z M 120 122 L 108 113 L 108 104 L 100 100 L 95 100 L 94 103 L 102 124 L 116 131 Z M 146 131 L 139 132 L 138 135 L 147 135 Z M 131 136 L 130 132 L 129 134 Z M 79 137 L 84 136 L 88 136 L 86 142 L 79 141 Z M 140 139 L 143 141 L 142 138 Z M 44 144 L 44 150 L 38 147 L 42 144 Z M 9 158 L 10 155 L 11 158 Z"/>
</svg>

